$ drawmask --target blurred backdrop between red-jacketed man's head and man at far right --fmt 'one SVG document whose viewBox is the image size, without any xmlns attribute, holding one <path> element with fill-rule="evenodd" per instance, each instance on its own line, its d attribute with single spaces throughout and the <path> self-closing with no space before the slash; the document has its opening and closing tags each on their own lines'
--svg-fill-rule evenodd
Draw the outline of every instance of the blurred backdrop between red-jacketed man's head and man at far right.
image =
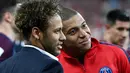
<svg viewBox="0 0 130 73">
<path fill-rule="evenodd" d="M 130 0 L 61 0 L 60 3 L 79 11 L 90 27 L 92 36 L 98 40 L 103 38 L 108 11 L 118 8 L 130 13 Z"/>
</svg>

